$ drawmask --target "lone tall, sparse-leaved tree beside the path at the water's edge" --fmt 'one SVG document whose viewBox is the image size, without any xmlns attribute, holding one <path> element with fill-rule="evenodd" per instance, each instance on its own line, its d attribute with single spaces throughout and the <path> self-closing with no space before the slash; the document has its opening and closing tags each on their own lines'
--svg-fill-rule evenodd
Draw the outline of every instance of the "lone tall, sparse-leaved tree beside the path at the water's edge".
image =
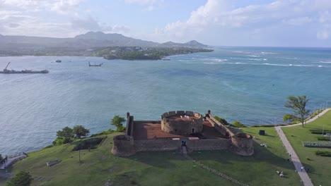
<svg viewBox="0 0 331 186">
<path fill-rule="evenodd" d="M 298 120 L 303 126 L 306 117 L 309 115 L 309 110 L 306 110 L 306 104 L 309 99 L 307 99 L 305 95 L 298 97 L 289 96 L 287 99 L 285 107 L 292 109 L 294 111 L 294 116 L 298 115 Z"/>
</svg>

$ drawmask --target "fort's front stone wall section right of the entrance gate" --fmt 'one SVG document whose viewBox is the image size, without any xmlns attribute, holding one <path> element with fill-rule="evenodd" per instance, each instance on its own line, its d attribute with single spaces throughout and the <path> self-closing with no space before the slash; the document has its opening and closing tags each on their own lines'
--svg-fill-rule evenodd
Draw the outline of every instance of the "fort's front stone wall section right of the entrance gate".
<svg viewBox="0 0 331 186">
<path fill-rule="evenodd" d="M 231 146 L 231 140 L 186 140 L 186 146 L 190 151 L 223 150 Z"/>
</svg>

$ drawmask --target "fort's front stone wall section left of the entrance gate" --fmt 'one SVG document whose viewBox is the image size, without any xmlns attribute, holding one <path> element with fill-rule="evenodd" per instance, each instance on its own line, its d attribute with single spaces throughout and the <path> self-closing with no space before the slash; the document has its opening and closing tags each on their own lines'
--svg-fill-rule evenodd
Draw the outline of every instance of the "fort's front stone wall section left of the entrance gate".
<svg viewBox="0 0 331 186">
<path fill-rule="evenodd" d="M 179 140 L 135 140 L 136 151 L 175 151 L 180 149 Z"/>
</svg>

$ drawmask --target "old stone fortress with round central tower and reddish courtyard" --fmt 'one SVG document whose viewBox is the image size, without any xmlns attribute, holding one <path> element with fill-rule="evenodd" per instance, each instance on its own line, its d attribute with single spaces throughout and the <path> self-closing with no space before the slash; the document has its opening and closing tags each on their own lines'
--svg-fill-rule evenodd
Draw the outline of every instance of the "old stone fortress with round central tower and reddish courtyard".
<svg viewBox="0 0 331 186">
<path fill-rule="evenodd" d="M 127 113 L 124 135 L 114 137 L 112 154 L 131 156 L 139 151 L 224 150 L 250 156 L 254 153 L 252 136 L 234 134 L 208 111 L 205 116 L 192 111 L 170 111 L 160 120 L 134 120 Z"/>
</svg>

